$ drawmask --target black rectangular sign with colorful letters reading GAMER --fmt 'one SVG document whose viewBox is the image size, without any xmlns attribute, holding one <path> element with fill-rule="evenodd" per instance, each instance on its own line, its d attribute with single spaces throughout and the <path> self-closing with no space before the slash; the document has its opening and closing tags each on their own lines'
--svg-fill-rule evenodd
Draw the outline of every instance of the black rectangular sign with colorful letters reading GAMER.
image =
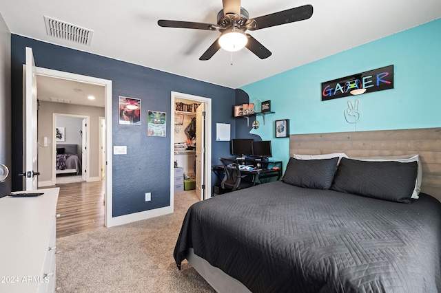
<svg viewBox="0 0 441 293">
<path fill-rule="evenodd" d="M 352 89 L 367 89 L 367 93 L 393 89 L 393 65 L 322 83 L 322 100 L 351 96 Z"/>
</svg>

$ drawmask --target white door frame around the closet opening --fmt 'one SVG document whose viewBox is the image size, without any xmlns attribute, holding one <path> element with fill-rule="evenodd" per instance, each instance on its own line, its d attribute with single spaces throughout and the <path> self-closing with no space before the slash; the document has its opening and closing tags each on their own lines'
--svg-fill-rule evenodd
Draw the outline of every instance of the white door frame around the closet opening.
<svg viewBox="0 0 441 293">
<path fill-rule="evenodd" d="M 185 100 L 194 100 L 196 102 L 204 102 L 205 107 L 205 199 L 212 197 L 212 99 L 201 96 L 194 96 L 190 94 L 183 94 L 177 91 L 171 92 L 171 107 L 170 111 L 170 129 L 174 127 L 174 111 L 175 98 L 183 98 Z M 170 206 L 174 210 L 174 132 L 170 131 Z"/>
</svg>

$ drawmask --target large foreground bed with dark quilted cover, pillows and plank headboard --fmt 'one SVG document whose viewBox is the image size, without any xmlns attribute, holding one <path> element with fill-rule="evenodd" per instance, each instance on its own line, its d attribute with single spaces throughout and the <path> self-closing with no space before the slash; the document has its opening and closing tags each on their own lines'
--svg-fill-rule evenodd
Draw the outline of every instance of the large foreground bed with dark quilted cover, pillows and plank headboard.
<svg viewBox="0 0 441 293">
<path fill-rule="evenodd" d="M 402 161 L 397 140 L 378 149 L 387 144 L 368 132 L 377 149 L 354 151 L 360 133 L 345 133 L 349 158 L 291 153 L 283 180 L 194 204 L 176 241 L 178 268 L 187 259 L 218 292 L 440 292 L 441 203 L 424 193 L 438 186 L 422 176 L 418 187 L 422 169 L 439 176 L 440 148 L 420 142 L 423 156 Z M 429 132 L 438 141 L 439 129 Z M 376 160 L 360 158 L 366 150 Z"/>
</svg>

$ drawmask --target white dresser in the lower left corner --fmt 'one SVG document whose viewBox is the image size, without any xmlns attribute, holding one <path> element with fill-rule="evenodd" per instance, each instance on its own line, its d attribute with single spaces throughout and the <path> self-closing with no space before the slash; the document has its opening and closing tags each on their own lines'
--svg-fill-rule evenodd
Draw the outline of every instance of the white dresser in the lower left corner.
<svg viewBox="0 0 441 293">
<path fill-rule="evenodd" d="M 59 188 L 36 192 L 44 194 L 0 199 L 0 292 L 55 290 Z"/>
</svg>

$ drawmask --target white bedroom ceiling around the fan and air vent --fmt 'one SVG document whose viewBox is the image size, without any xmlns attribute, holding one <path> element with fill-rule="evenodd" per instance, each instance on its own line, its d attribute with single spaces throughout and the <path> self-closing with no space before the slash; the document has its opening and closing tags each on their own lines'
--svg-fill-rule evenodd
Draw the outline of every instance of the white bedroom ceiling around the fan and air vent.
<svg viewBox="0 0 441 293">
<path fill-rule="evenodd" d="M 161 28 L 158 19 L 216 23 L 221 0 L 1 0 L 10 32 L 32 39 L 238 88 L 441 17 L 440 0 L 243 0 L 249 17 L 311 4 L 311 19 L 248 32 L 272 52 L 264 60 L 244 49 L 198 58 L 217 31 Z M 93 31 L 78 45 L 48 36 L 43 17 Z M 38 61 L 37 61 L 38 66 Z"/>
</svg>

